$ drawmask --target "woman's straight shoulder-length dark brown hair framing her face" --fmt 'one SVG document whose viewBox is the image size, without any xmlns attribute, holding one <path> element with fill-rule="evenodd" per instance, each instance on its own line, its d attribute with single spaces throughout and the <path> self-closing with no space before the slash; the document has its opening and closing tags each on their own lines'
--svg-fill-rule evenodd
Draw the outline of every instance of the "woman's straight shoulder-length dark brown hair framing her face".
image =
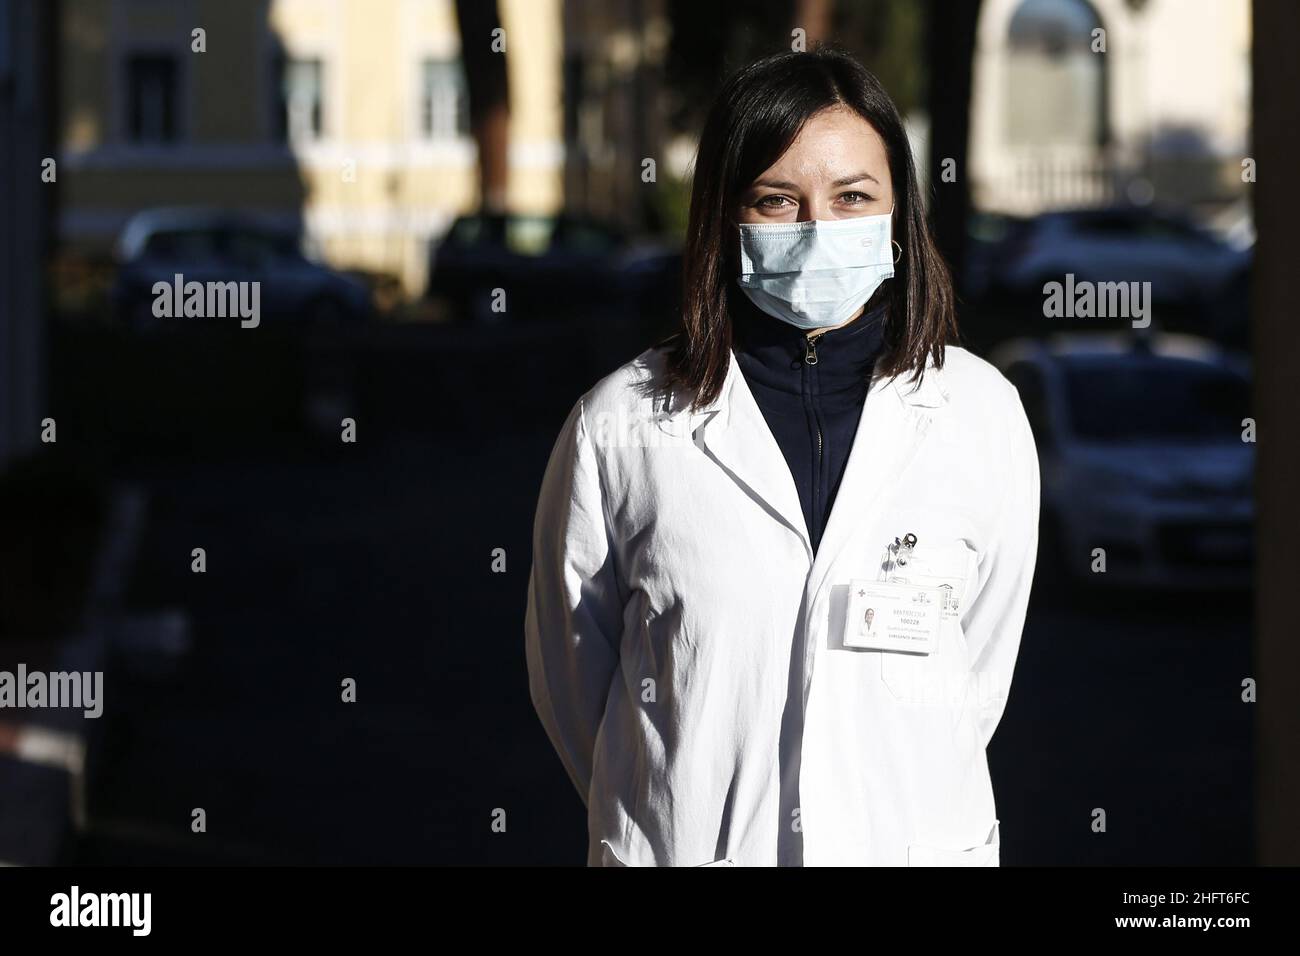
<svg viewBox="0 0 1300 956">
<path fill-rule="evenodd" d="M 916 168 L 898 109 L 880 81 L 848 53 L 820 48 L 779 53 L 727 81 L 708 111 L 696 159 L 682 264 L 681 329 L 664 345 L 664 385 L 699 407 L 714 402 L 731 365 L 732 297 L 740 294 L 736 209 L 741 194 L 772 165 L 812 116 L 846 107 L 884 139 L 894 190 L 894 241 L 902 248 L 888 299 L 883 375 L 944 363 L 957 338 L 953 285 L 926 225 Z M 876 302 L 874 298 L 872 302 Z"/>
</svg>

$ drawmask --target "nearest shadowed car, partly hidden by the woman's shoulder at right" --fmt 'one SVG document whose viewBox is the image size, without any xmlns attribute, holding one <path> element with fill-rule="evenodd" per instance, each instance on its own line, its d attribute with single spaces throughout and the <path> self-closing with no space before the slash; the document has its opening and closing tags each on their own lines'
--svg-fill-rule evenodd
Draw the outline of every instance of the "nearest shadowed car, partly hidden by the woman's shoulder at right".
<svg viewBox="0 0 1300 956">
<path fill-rule="evenodd" d="M 1204 339 L 1020 339 L 993 362 L 1019 389 L 1043 475 L 1040 561 L 1076 583 L 1245 587 L 1254 445 L 1249 375 Z M 1096 574 L 1093 549 L 1105 550 Z"/>
</svg>

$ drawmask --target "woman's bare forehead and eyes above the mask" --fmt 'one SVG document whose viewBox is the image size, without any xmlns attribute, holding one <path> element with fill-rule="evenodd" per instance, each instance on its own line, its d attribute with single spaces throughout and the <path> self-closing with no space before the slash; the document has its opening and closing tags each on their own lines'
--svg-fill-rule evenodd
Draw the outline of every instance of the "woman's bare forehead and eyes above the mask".
<svg viewBox="0 0 1300 956">
<path fill-rule="evenodd" d="M 806 222 L 889 212 L 893 181 L 885 143 L 852 109 L 833 107 L 803 124 L 776 163 L 741 195 L 737 222 Z"/>
</svg>

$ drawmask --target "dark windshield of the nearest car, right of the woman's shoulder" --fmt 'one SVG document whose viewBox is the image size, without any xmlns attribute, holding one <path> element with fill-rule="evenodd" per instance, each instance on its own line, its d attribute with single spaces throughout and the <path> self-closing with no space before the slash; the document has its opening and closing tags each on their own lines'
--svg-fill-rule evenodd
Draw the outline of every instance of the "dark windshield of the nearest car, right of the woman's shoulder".
<svg viewBox="0 0 1300 956">
<path fill-rule="evenodd" d="M 1249 408 L 1243 376 L 1188 359 L 1072 362 L 1065 381 L 1071 427 L 1086 441 L 1235 440 Z"/>
</svg>

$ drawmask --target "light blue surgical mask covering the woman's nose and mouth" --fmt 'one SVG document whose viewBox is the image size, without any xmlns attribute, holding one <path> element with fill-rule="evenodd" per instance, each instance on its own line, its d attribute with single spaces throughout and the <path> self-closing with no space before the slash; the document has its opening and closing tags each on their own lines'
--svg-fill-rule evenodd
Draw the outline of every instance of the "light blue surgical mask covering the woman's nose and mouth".
<svg viewBox="0 0 1300 956">
<path fill-rule="evenodd" d="M 740 286 L 801 329 L 842 325 L 893 276 L 893 209 L 879 216 L 741 222 Z"/>
</svg>

